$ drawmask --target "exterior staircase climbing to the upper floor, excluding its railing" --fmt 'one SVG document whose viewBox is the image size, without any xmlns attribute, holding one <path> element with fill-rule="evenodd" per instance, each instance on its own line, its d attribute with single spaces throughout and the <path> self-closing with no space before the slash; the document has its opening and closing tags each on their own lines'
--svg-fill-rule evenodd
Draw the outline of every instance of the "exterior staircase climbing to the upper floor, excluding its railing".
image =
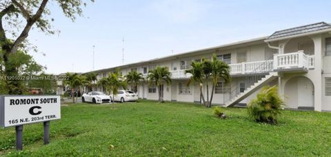
<svg viewBox="0 0 331 157">
<path fill-rule="evenodd" d="M 250 96 L 250 94 L 253 94 L 276 78 L 278 78 L 278 72 L 269 72 L 268 74 L 261 76 L 256 80 L 257 82 L 252 83 L 252 85 L 250 85 L 250 87 L 245 89 L 243 92 L 237 92 L 234 96 L 229 98 L 228 101 L 224 103 L 223 107 L 232 107 L 237 105 L 240 101 L 243 101 L 243 99 Z"/>
</svg>

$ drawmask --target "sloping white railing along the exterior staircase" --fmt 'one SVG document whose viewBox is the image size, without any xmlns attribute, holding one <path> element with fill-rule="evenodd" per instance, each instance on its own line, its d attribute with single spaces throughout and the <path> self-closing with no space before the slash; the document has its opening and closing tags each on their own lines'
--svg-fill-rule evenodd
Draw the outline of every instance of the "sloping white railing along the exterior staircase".
<svg viewBox="0 0 331 157">
<path fill-rule="evenodd" d="M 242 92 L 245 92 L 245 90 L 248 89 L 248 87 L 251 87 L 254 85 L 254 83 L 257 83 L 261 79 L 263 79 L 267 74 L 269 74 L 270 70 L 272 71 L 272 63 L 270 61 L 274 58 L 274 56 L 270 57 L 267 61 L 264 61 L 263 63 L 259 64 L 257 68 L 252 70 L 252 72 L 246 73 L 243 82 L 239 81 L 239 83 L 236 83 L 235 85 L 230 86 L 228 90 L 223 92 L 223 104 L 228 103 L 232 101 L 234 98 L 236 98 L 239 94 Z M 271 66 L 271 68 L 270 68 Z M 240 84 L 245 83 L 245 87 L 243 87 L 244 90 L 241 90 Z"/>
</svg>

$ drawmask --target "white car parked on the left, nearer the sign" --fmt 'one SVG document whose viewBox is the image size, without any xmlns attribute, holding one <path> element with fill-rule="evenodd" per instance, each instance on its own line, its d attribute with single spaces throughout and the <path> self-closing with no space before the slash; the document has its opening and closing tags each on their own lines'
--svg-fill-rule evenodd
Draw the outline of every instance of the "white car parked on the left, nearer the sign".
<svg viewBox="0 0 331 157">
<path fill-rule="evenodd" d="M 83 94 L 81 96 L 81 101 L 83 103 L 110 103 L 112 99 L 110 96 L 106 95 L 103 92 L 88 92 L 87 94 Z"/>
</svg>

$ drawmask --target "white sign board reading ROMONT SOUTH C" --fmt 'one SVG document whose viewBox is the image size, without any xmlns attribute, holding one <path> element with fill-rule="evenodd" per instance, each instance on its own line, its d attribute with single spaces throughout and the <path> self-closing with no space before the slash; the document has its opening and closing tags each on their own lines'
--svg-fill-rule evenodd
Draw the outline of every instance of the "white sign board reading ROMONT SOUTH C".
<svg viewBox="0 0 331 157">
<path fill-rule="evenodd" d="M 52 121 L 60 118 L 60 96 L 0 96 L 1 127 Z"/>
</svg>

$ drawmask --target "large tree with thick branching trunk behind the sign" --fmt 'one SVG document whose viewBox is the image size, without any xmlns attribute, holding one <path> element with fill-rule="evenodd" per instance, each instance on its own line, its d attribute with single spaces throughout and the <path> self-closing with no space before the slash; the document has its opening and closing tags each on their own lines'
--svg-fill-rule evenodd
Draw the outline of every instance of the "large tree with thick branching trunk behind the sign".
<svg viewBox="0 0 331 157">
<path fill-rule="evenodd" d="M 82 0 L 52 0 L 59 5 L 63 14 L 72 19 L 82 15 L 82 6 L 86 6 Z M 94 1 L 94 0 L 90 0 Z M 18 76 L 18 70 L 10 63 L 10 56 L 26 49 L 26 39 L 32 27 L 39 28 L 41 32 L 54 34 L 50 18 L 50 10 L 47 8 L 49 0 L 3 0 L 0 2 L 0 46 L 6 76 Z M 25 19 L 21 25 L 21 19 Z M 3 21 L 5 20 L 5 21 Z M 12 28 L 16 28 L 12 30 Z M 22 28 L 22 29 L 20 29 Z M 7 29 L 7 30 L 5 30 Z M 12 39 L 8 38 L 11 32 Z M 6 80 L 8 94 L 22 94 L 19 81 Z"/>
</svg>

